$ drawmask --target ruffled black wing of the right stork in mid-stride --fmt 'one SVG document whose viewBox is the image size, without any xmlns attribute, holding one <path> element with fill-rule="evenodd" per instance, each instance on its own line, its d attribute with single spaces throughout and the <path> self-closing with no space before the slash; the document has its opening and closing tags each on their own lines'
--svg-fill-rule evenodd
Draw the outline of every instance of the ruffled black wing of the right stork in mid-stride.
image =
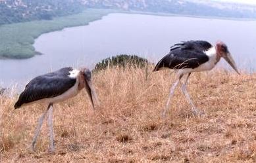
<svg viewBox="0 0 256 163">
<path fill-rule="evenodd" d="M 202 63 L 209 61 L 204 53 L 212 45 L 207 41 L 186 41 L 170 47 L 170 52 L 162 58 L 153 71 L 162 67 L 170 69 L 196 68 Z"/>
</svg>

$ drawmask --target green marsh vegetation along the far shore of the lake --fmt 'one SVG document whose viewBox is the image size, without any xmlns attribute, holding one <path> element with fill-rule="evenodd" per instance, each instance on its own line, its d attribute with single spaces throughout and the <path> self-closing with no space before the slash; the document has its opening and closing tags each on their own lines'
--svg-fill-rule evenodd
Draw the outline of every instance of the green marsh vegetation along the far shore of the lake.
<svg viewBox="0 0 256 163">
<path fill-rule="evenodd" d="M 87 9 L 79 14 L 61 16 L 53 20 L 38 20 L 0 26 L 0 58 L 31 58 L 38 54 L 34 39 L 42 33 L 61 30 L 64 27 L 84 26 L 99 20 L 115 10 Z"/>
</svg>

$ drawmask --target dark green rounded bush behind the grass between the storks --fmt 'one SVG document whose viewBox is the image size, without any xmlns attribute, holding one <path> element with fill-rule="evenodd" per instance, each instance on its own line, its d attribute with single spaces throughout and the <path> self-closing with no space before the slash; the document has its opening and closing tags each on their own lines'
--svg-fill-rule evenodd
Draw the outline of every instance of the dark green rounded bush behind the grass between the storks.
<svg viewBox="0 0 256 163">
<path fill-rule="evenodd" d="M 101 62 L 97 63 L 93 69 L 93 71 L 101 71 L 103 69 L 107 69 L 107 67 L 145 67 L 149 62 L 145 58 L 141 58 L 136 55 L 126 55 L 121 54 L 118 56 L 113 56 L 110 58 L 105 58 L 101 60 Z"/>
</svg>

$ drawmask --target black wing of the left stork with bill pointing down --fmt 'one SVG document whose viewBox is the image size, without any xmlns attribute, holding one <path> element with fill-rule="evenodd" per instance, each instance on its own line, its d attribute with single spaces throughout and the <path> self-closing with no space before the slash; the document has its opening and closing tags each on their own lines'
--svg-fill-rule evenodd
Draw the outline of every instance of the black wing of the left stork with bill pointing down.
<svg viewBox="0 0 256 163">
<path fill-rule="evenodd" d="M 72 71 L 72 67 L 64 67 L 53 73 L 47 73 L 32 79 L 20 94 L 14 108 L 17 109 L 24 103 L 53 98 L 66 92 L 76 83 L 76 79 L 68 77 L 69 71 Z"/>
</svg>

